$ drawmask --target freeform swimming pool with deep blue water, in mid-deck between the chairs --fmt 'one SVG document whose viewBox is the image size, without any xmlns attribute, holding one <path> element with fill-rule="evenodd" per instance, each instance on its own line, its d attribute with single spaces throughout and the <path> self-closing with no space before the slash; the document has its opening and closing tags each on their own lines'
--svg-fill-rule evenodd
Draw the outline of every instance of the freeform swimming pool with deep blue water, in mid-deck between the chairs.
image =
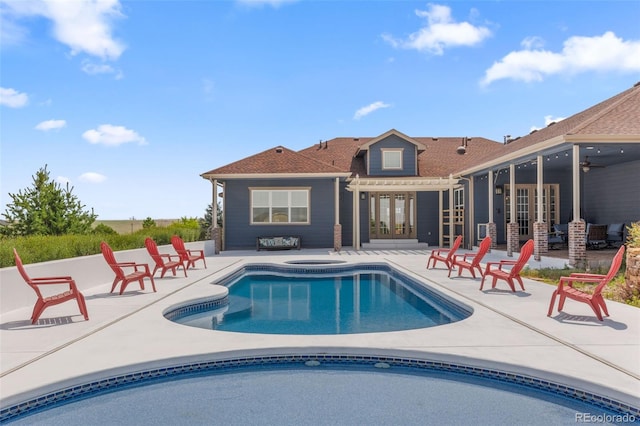
<svg viewBox="0 0 640 426">
<path fill-rule="evenodd" d="M 435 327 L 472 313 L 386 264 L 246 265 L 219 284 L 229 288 L 227 303 L 187 302 L 165 316 L 220 331 L 311 335 Z"/>
</svg>

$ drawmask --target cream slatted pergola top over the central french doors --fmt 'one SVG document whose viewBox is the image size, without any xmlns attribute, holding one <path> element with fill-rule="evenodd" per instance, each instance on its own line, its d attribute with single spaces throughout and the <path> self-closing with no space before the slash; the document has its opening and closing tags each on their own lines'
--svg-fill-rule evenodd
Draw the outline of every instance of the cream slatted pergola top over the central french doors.
<svg viewBox="0 0 640 426">
<path fill-rule="evenodd" d="M 388 192 L 388 191 L 446 191 L 460 187 L 460 178 L 359 178 L 351 179 L 347 191 Z"/>
</svg>

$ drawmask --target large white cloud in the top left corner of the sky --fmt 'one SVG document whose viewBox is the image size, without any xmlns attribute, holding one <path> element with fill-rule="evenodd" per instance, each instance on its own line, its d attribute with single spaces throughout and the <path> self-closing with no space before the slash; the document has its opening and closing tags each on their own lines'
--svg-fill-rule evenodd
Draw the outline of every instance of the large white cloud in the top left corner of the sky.
<svg viewBox="0 0 640 426">
<path fill-rule="evenodd" d="M 24 37 L 11 18 L 42 16 L 53 22 L 53 36 L 71 48 L 71 54 L 84 52 L 102 59 L 115 60 L 125 49 L 112 36 L 112 22 L 124 15 L 118 0 L 31 0 L 3 2 L 3 24 L 11 24 L 7 37 Z M 4 31 L 4 30 L 3 30 Z M 22 33 L 20 32 L 22 31 Z M 3 34 L 4 35 L 4 34 Z"/>
</svg>

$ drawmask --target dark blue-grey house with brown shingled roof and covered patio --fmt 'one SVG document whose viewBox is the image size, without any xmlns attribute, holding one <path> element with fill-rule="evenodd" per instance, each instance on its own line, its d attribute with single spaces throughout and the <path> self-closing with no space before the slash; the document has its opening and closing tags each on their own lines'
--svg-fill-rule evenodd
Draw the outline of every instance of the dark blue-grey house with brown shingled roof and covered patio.
<svg viewBox="0 0 640 426">
<path fill-rule="evenodd" d="M 224 250 L 255 248 L 264 236 L 358 250 L 446 246 L 459 234 L 470 248 L 488 234 L 509 255 L 533 238 L 539 258 L 562 223 L 577 264 L 587 223 L 640 220 L 640 84 L 504 142 L 391 129 L 300 151 L 277 146 L 201 176 L 214 197 L 222 188 L 224 225 L 213 235 Z"/>
</svg>

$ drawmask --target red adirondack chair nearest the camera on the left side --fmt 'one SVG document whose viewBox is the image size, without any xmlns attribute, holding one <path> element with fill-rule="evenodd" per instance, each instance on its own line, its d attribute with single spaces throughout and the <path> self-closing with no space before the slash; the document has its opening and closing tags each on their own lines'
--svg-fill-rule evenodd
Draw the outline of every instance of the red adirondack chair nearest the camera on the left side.
<svg viewBox="0 0 640 426">
<path fill-rule="evenodd" d="M 45 309 L 49 306 L 58 305 L 63 302 L 67 302 L 69 300 L 74 300 L 78 303 L 78 308 L 80 308 L 80 313 L 84 316 L 85 320 L 89 320 L 89 314 L 87 313 L 87 304 L 84 301 L 84 296 L 78 288 L 76 287 L 76 282 L 71 277 L 40 277 L 40 278 L 31 278 L 25 271 L 24 266 L 22 265 L 22 259 L 18 255 L 16 249 L 13 249 L 13 255 L 16 259 L 16 266 L 18 267 L 18 272 L 22 278 L 26 281 L 26 283 L 36 292 L 38 296 L 38 300 L 36 301 L 35 306 L 33 307 L 33 313 L 31 314 L 31 324 L 35 324 L 38 322 L 38 318 L 42 315 Z M 68 286 L 68 290 L 55 294 L 52 296 L 43 296 L 40 291 L 40 286 L 48 286 L 48 285 L 63 285 L 66 284 Z"/>
</svg>

